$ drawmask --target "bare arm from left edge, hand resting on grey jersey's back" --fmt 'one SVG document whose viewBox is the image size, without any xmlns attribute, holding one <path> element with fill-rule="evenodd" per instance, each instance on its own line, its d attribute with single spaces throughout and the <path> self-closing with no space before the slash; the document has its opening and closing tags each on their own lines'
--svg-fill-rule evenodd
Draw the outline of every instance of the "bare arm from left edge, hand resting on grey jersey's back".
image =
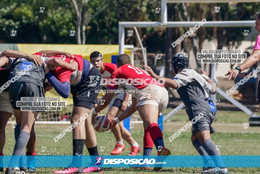
<svg viewBox="0 0 260 174">
<path fill-rule="evenodd" d="M 21 51 L 16 50 L 5 50 L 1 53 L 0 57 L 6 56 L 6 57 L 12 57 L 12 58 L 27 58 L 28 60 L 32 60 L 36 66 L 40 66 L 43 64 L 43 61 L 41 59 L 40 55 L 34 55 L 34 54 L 27 54 Z"/>
</svg>

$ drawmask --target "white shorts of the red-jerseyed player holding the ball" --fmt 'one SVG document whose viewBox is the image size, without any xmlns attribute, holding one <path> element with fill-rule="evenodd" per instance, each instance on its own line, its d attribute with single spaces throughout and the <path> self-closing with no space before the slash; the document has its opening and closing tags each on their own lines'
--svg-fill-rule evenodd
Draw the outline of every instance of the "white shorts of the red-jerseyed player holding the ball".
<svg viewBox="0 0 260 174">
<path fill-rule="evenodd" d="M 146 92 L 137 93 L 137 106 L 155 105 L 158 107 L 158 115 L 163 115 L 169 100 L 168 91 L 158 85 L 148 85 L 141 90 L 145 90 Z"/>
</svg>

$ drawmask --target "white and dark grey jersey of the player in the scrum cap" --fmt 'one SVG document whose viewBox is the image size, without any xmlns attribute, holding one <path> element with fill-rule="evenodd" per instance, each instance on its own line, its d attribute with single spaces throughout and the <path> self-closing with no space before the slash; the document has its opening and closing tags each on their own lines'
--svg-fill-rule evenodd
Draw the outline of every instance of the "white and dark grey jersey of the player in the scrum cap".
<svg viewBox="0 0 260 174">
<path fill-rule="evenodd" d="M 177 92 L 186 106 L 186 112 L 189 119 L 193 119 L 200 113 L 207 117 L 215 117 L 216 107 L 209 97 L 215 92 L 215 86 L 207 82 L 201 74 L 197 73 L 191 67 L 183 68 L 183 70 L 176 74 L 173 78 L 178 83 Z M 204 117 L 199 120 L 205 120 Z"/>
</svg>

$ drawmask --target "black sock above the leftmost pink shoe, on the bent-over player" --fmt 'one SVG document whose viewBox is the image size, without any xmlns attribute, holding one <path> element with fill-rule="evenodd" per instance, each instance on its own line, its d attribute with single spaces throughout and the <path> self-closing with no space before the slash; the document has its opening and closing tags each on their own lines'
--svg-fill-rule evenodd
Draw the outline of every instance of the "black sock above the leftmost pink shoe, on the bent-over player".
<svg viewBox="0 0 260 174">
<path fill-rule="evenodd" d="M 74 139 L 73 141 L 73 159 L 72 159 L 72 167 L 82 166 L 82 154 L 83 148 L 85 145 L 84 139 Z"/>
</svg>

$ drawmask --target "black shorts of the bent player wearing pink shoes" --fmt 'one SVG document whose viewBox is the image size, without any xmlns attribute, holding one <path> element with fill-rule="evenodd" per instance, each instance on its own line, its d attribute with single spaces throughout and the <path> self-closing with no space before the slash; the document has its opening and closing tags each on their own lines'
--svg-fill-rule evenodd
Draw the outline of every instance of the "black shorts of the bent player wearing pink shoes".
<svg viewBox="0 0 260 174">
<path fill-rule="evenodd" d="M 86 79 L 81 81 L 76 86 L 70 86 L 74 106 L 80 106 L 87 109 L 92 109 L 98 97 L 98 90 L 101 89 L 100 85 L 102 76 L 100 71 L 93 66 Z"/>
</svg>

